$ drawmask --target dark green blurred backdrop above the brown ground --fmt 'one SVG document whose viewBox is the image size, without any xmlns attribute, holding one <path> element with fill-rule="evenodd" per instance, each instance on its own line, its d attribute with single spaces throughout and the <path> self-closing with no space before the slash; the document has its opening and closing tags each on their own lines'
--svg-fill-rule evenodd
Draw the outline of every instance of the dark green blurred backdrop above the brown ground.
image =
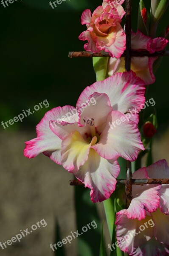
<svg viewBox="0 0 169 256">
<path fill-rule="evenodd" d="M 136 30 L 139 1 L 132 2 L 132 28 Z M 18 0 L 6 8 L 0 4 L 0 122 L 13 119 L 23 109 L 32 109 L 45 99 L 50 104 L 48 109 L 40 109 L 6 131 L 35 129 L 47 110 L 76 105 L 82 90 L 96 81 L 92 59 L 69 59 L 68 52 L 83 50 L 84 42 L 78 39 L 85 30 L 80 23 L 82 11 L 86 8 L 93 11 L 101 3 L 101 0 L 67 0 L 55 9 L 48 0 Z M 168 15 L 166 12 L 159 33 L 168 25 Z M 156 102 L 162 128 L 169 122 L 168 73 L 165 57 L 148 96 Z"/>
</svg>

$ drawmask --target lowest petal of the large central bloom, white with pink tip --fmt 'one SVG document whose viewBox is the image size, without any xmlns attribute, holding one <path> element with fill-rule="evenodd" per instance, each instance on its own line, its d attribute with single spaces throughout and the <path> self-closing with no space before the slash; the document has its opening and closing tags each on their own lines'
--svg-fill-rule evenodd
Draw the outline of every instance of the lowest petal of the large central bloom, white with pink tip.
<svg viewBox="0 0 169 256">
<path fill-rule="evenodd" d="M 90 196 L 93 203 L 104 201 L 115 190 L 116 178 L 120 167 L 116 160 L 106 160 L 90 148 L 88 160 L 75 173 L 78 180 L 91 189 Z"/>
</svg>

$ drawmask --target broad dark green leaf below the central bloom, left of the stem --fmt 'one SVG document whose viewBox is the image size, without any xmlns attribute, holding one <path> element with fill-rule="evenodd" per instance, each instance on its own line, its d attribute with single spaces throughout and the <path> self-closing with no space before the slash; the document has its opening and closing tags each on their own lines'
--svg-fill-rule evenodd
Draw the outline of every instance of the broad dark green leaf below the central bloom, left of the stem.
<svg viewBox="0 0 169 256">
<path fill-rule="evenodd" d="M 95 221 L 97 224 L 97 228 L 91 228 L 86 233 L 78 236 L 78 256 L 99 255 L 101 225 L 97 204 L 93 204 L 90 199 L 90 189 L 84 186 L 75 186 L 75 209 L 79 233 L 81 233 L 82 227 L 87 227 L 87 224 L 92 221 Z"/>
</svg>

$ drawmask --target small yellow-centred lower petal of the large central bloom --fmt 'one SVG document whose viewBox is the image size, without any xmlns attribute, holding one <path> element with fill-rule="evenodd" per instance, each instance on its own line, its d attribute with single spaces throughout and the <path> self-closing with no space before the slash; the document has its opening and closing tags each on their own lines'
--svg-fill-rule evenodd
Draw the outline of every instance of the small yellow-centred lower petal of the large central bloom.
<svg viewBox="0 0 169 256">
<path fill-rule="evenodd" d="M 62 141 L 62 166 L 69 171 L 79 170 L 88 158 L 90 146 L 95 144 L 97 137 L 93 137 L 90 143 L 87 143 L 78 131 L 72 132 Z"/>
</svg>

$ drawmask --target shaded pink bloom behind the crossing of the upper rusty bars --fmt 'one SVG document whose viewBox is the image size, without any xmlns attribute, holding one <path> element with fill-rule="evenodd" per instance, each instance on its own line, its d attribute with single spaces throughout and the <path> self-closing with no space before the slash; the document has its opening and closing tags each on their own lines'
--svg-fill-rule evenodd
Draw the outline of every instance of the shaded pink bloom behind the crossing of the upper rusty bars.
<svg viewBox="0 0 169 256">
<path fill-rule="evenodd" d="M 147 50 L 150 53 L 163 50 L 168 43 L 165 38 L 150 38 L 142 34 L 139 30 L 137 33 L 132 32 L 131 35 L 131 49 L 132 50 Z M 146 84 L 153 84 L 155 76 L 153 74 L 153 63 L 158 57 L 132 57 L 131 70 L 133 70 L 138 77 L 140 77 Z M 116 72 L 124 72 L 125 61 L 124 57 L 110 58 L 108 63 L 108 74 L 112 76 Z"/>
</svg>

